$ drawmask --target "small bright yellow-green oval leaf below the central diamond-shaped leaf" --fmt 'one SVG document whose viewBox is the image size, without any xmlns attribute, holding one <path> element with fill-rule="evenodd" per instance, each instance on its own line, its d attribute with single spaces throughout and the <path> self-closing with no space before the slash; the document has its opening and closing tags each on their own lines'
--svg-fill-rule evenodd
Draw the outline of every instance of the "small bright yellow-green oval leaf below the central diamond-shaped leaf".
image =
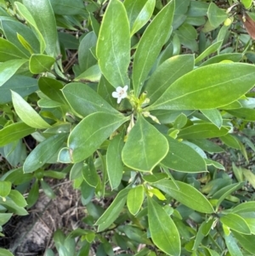
<svg viewBox="0 0 255 256">
<path fill-rule="evenodd" d="M 127 194 L 127 208 L 129 212 L 136 215 L 144 202 L 144 186 L 138 185 Z"/>
</svg>

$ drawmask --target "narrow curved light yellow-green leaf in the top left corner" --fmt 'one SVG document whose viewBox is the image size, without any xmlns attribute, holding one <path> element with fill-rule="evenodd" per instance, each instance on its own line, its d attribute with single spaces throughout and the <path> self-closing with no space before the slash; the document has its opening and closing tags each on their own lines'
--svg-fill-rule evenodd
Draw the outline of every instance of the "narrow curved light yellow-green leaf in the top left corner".
<svg viewBox="0 0 255 256">
<path fill-rule="evenodd" d="M 41 3 L 42 3 L 42 1 L 41 1 Z M 34 28 L 37 38 L 40 43 L 40 54 L 43 54 L 43 52 L 46 48 L 45 41 L 44 41 L 44 38 L 42 37 L 40 30 L 37 27 L 36 21 L 34 20 L 33 16 L 31 15 L 31 12 L 26 8 L 26 6 L 24 4 L 22 4 L 20 2 L 15 2 L 15 8 L 25 18 L 25 20 L 27 20 L 27 22 Z"/>
</svg>

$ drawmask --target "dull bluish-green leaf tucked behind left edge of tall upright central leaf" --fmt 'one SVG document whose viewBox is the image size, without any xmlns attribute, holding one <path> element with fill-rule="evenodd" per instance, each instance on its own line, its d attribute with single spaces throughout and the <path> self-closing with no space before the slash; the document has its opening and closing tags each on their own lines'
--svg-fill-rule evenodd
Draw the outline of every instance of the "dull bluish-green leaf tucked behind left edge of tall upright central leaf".
<svg viewBox="0 0 255 256">
<path fill-rule="evenodd" d="M 89 67 L 97 63 L 97 60 L 91 53 L 91 48 L 93 48 L 96 43 L 97 37 L 94 31 L 89 32 L 85 37 L 82 38 L 78 48 L 78 62 L 81 71 L 87 71 Z"/>
</svg>

